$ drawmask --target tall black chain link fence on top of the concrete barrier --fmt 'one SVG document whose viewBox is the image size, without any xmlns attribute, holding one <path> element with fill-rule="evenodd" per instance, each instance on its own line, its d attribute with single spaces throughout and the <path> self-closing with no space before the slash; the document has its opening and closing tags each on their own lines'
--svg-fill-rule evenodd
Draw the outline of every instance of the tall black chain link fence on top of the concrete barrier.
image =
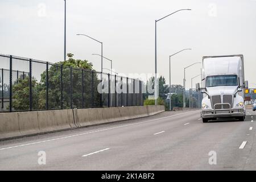
<svg viewBox="0 0 256 182">
<path fill-rule="evenodd" d="M 141 80 L 0 55 L 1 112 L 135 105 L 143 105 Z"/>
</svg>

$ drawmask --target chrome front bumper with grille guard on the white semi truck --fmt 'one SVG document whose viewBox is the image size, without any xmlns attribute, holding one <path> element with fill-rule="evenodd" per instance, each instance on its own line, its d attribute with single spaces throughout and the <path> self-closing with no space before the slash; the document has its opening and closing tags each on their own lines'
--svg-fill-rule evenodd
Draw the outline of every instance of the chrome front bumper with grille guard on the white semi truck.
<svg viewBox="0 0 256 182">
<path fill-rule="evenodd" d="M 216 105 L 229 105 L 229 109 L 215 109 Z M 233 118 L 233 117 L 242 117 L 246 115 L 245 109 L 231 109 L 231 105 L 224 104 L 216 104 L 214 105 L 214 109 L 205 109 L 201 111 L 201 117 L 203 118 Z"/>
</svg>

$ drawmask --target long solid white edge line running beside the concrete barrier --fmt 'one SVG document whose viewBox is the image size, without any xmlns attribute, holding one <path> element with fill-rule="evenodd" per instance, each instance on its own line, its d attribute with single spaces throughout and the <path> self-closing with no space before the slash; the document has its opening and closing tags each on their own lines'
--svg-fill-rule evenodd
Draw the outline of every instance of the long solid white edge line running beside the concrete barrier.
<svg viewBox="0 0 256 182">
<path fill-rule="evenodd" d="M 107 130 L 118 129 L 118 128 L 120 128 L 120 127 L 139 125 L 139 124 L 142 124 L 142 123 L 147 123 L 147 122 L 152 122 L 152 121 L 158 121 L 158 120 L 161 120 L 161 119 L 171 118 L 171 117 L 175 117 L 175 116 L 177 116 L 177 115 L 183 115 L 183 114 L 187 114 L 187 113 L 189 113 L 189 112 L 180 113 L 180 114 L 174 114 L 174 115 L 170 115 L 170 116 L 163 117 L 163 118 L 151 119 L 151 120 L 148 120 L 148 121 L 142 121 L 142 122 L 137 122 L 137 123 L 131 123 L 131 124 L 127 124 L 127 125 L 121 125 L 121 126 L 110 127 L 110 128 L 102 129 L 102 130 L 89 131 L 89 132 L 86 132 L 86 133 L 81 133 L 81 134 L 76 134 L 76 135 L 69 135 L 69 136 L 67 136 L 67 137 L 54 138 L 54 139 L 43 140 L 43 141 L 39 141 L 39 142 L 20 144 L 20 145 L 18 145 L 18 146 L 11 146 L 11 147 L 6 147 L 6 148 L 0 148 L 0 151 L 1 151 L 1 150 L 6 150 L 6 149 L 10 149 L 10 148 L 30 146 L 31 144 L 39 144 L 39 143 L 51 142 L 51 141 L 55 141 L 55 140 L 61 140 L 61 139 L 67 139 L 67 138 L 72 138 L 72 137 L 78 137 L 78 136 L 81 136 L 81 135 L 86 135 L 86 134 L 98 133 L 98 132 L 101 132 L 101 131 L 107 131 Z"/>
</svg>

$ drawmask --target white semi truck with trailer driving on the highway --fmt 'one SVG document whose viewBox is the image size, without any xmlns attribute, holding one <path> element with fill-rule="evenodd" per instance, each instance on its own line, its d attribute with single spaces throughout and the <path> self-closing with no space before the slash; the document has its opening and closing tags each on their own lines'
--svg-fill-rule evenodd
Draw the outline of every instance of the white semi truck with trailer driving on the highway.
<svg viewBox="0 0 256 182">
<path fill-rule="evenodd" d="M 244 121 L 247 87 L 243 55 L 204 56 L 201 88 L 196 84 L 196 88 L 204 93 L 203 122 L 224 118 Z"/>
</svg>

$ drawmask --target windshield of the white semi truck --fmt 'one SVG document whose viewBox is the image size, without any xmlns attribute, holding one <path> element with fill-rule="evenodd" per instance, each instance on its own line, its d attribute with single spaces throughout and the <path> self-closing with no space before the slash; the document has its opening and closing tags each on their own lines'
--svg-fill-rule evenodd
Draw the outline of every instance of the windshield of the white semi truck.
<svg viewBox="0 0 256 182">
<path fill-rule="evenodd" d="M 237 86 L 236 75 L 218 75 L 207 77 L 207 87 L 212 86 Z"/>
</svg>

